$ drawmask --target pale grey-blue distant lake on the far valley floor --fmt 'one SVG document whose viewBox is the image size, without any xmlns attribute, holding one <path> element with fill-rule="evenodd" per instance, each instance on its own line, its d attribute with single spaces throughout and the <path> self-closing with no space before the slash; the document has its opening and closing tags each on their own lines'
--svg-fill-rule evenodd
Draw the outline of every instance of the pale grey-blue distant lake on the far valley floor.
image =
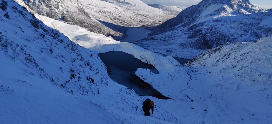
<svg viewBox="0 0 272 124">
<path fill-rule="evenodd" d="M 128 35 L 124 39 L 120 40 L 121 42 L 133 42 L 140 39 L 147 38 L 147 34 L 152 32 L 151 30 L 147 30 L 141 27 L 132 27 L 127 30 L 126 34 Z"/>
</svg>

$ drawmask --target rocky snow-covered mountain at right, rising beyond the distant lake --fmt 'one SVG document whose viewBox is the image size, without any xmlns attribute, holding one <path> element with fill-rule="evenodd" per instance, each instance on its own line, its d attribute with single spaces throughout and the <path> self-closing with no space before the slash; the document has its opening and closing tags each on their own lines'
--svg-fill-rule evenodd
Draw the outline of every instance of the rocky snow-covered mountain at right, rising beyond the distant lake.
<svg viewBox="0 0 272 124">
<path fill-rule="evenodd" d="M 271 16 L 272 9 L 258 8 L 248 0 L 203 0 L 154 27 L 154 36 L 136 44 L 192 59 L 227 42 L 251 42 L 271 35 Z"/>
</svg>

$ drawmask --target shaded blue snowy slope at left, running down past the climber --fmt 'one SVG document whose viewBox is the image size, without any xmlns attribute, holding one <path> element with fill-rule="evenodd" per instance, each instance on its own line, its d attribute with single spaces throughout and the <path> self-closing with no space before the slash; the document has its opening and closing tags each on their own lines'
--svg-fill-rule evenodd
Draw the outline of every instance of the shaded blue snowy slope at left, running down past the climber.
<svg viewBox="0 0 272 124">
<path fill-rule="evenodd" d="M 27 6 L 4 0 L 0 5 L 0 99 L 5 101 L 0 102 L 0 123 L 89 123 L 95 118 L 97 123 L 133 123 L 142 118 L 147 97 L 112 81 L 97 52 L 47 27 Z M 149 123 L 176 122 L 164 107 L 155 106 Z M 127 115 L 139 116 L 127 120 Z"/>
</svg>

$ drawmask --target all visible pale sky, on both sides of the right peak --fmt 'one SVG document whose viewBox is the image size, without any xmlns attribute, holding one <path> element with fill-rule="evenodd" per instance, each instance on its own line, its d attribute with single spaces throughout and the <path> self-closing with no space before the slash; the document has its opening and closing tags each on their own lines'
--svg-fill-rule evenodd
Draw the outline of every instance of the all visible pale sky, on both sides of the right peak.
<svg viewBox="0 0 272 124">
<path fill-rule="evenodd" d="M 201 0 L 140 0 L 146 4 L 163 4 L 168 6 L 192 6 L 198 4 Z M 272 6 L 271 0 L 249 0 L 251 4 Z"/>
</svg>

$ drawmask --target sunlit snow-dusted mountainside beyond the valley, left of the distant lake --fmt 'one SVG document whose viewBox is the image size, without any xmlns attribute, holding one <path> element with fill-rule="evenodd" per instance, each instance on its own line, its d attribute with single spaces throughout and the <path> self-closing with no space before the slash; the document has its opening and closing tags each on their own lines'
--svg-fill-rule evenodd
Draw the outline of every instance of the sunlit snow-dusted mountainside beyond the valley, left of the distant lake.
<svg viewBox="0 0 272 124">
<path fill-rule="evenodd" d="M 131 26 L 154 26 L 173 18 L 139 0 L 24 0 L 36 13 L 120 40 Z"/>
</svg>

